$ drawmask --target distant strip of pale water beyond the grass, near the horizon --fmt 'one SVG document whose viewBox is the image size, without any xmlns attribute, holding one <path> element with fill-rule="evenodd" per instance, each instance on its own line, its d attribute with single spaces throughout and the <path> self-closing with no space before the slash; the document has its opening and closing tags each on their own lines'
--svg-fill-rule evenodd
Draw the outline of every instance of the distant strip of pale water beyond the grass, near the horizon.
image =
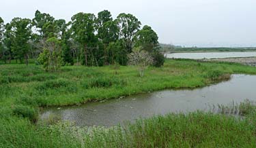
<svg viewBox="0 0 256 148">
<path fill-rule="evenodd" d="M 174 53 L 166 54 L 167 58 L 189 58 L 189 59 L 203 59 L 203 58 L 242 58 L 256 56 L 256 52 L 202 52 L 202 53 Z"/>
</svg>

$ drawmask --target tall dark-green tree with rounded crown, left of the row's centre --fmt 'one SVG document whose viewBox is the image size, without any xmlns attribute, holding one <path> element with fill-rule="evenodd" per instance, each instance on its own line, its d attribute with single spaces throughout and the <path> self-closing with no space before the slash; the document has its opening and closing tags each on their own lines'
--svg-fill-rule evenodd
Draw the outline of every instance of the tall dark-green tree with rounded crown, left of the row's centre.
<svg viewBox="0 0 256 148">
<path fill-rule="evenodd" d="M 88 52 L 88 48 L 94 48 L 93 46 L 97 42 L 96 35 L 94 34 L 96 17 L 94 14 L 84 14 L 83 12 L 80 12 L 72 16 L 71 20 L 72 37 L 83 49 L 82 64 L 88 66 L 87 58 L 88 54 L 91 54 Z"/>
</svg>

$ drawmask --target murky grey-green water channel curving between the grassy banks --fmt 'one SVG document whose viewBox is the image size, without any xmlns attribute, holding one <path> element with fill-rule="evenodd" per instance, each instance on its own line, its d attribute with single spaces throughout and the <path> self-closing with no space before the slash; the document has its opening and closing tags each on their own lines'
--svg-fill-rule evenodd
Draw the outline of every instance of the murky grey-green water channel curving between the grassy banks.
<svg viewBox="0 0 256 148">
<path fill-rule="evenodd" d="M 245 99 L 256 100 L 256 75 L 232 75 L 230 81 L 195 90 L 163 90 L 148 94 L 107 100 L 104 103 L 48 108 L 41 119 L 57 115 L 78 126 L 113 126 L 139 117 L 165 115 L 173 112 L 207 110 L 212 105 L 240 103 Z"/>
</svg>

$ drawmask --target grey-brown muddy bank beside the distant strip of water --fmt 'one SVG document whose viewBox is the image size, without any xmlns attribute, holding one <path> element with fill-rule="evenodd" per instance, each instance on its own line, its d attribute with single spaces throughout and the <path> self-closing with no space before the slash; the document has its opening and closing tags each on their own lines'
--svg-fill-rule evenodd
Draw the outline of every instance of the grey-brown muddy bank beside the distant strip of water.
<svg viewBox="0 0 256 148">
<path fill-rule="evenodd" d="M 246 64 L 246 65 L 256 67 L 256 57 L 250 57 L 250 58 L 213 58 L 213 59 L 205 59 L 203 61 L 238 62 L 238 63 L 241 63 L 241 64 Z"/>
</svg>

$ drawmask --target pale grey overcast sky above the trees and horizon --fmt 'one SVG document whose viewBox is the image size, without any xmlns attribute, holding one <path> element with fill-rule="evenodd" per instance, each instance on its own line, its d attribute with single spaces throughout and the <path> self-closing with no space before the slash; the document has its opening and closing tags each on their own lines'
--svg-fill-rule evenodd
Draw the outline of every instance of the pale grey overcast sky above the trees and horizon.
<svg viewBox="0 0 256 148">
<path fill-rule="evenodd" d="M 0 16 L 10 22 L 33 18 L 35 10 L 66 20 L 78 12 L 125 12 L 152 26 L 160 43 L 256 46 L 255 0 L 1 0 Z"/>
</svg>

